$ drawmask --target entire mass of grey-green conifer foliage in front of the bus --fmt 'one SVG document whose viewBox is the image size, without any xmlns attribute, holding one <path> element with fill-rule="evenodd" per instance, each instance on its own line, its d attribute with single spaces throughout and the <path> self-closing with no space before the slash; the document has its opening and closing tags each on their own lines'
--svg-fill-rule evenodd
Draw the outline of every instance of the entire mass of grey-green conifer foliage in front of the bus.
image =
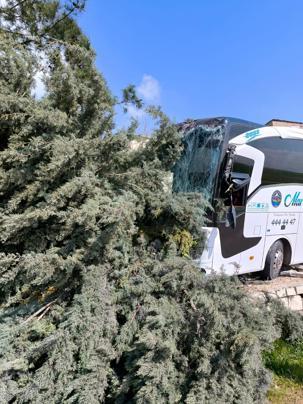
<svg viewBox="0 0 303 404">
<path fill-rule="evenodd" d="M 262 350 L 302 323 L 193 265 L 207 203 L 171 192 L 176 127 L 151 108 L 132 149 L 68 8 L 23 4 L 0 42 L 2 402 L 261 402 Z"/>
</svg>

